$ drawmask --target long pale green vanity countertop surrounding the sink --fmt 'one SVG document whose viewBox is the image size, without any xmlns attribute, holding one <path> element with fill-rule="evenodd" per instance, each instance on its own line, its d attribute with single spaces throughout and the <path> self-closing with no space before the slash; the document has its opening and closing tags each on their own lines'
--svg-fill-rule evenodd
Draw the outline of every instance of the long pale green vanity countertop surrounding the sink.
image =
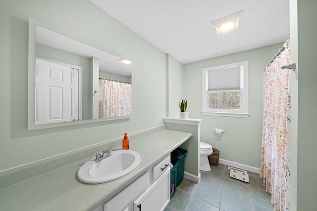
<svg viewBox="0 0 317 211">
<path fill-rule="evenodd" d="M 0 190 L 0 210 L 94 210 L 191 136 L 187 132 L 162 129 L 130 141 L 130 149 L 141 156 L 140 164 L 128 175 L 114 181 L 86 184 L 78 180 L 78 169 L 90 158 L 3 188 Z"/>
</svg>

